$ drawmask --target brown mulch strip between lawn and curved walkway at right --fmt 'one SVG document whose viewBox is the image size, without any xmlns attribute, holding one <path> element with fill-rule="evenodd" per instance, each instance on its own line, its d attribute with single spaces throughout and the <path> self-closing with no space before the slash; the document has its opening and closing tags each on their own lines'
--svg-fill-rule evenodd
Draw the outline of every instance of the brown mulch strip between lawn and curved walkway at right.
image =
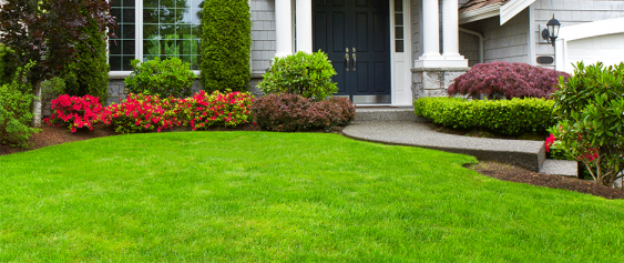
<svg viewBox="0 0 624 263">
<path fill-rule="evenodd" d="M 602 196 L 605 199 L 624 199 L 624 191 L 599 185 L 593 181 L 536 173 L 531 172 L 526 169 L 495 162 L 481 161 L 479 162 L 479 164 L 470 165 L 469 168 L 480 174 L 502 181 L 576 191 L 580 193 Z"/>
</svg>

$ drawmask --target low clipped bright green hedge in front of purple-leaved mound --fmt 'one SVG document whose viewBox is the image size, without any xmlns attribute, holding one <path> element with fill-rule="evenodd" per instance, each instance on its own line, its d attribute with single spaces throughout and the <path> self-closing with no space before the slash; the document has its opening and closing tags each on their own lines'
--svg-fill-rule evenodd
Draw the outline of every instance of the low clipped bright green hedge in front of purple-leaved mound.
<svg viewBox="0 0 624 263">
<path fill-rule="evenodd" d="M 484 129 L 507 135 L 546 134 L 554 125 L 554 101 L 545 99 L 464 100 L 421 98 L 413 102 L 418 117 L 454 129 Z"/>
</svg>

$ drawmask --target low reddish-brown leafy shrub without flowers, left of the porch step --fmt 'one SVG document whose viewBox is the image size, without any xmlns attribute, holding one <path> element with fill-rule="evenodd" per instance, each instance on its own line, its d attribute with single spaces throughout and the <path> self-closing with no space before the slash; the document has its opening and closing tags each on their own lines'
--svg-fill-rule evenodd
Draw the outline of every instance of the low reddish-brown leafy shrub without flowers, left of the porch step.
<svg viewBox="0 0 624 263">
<path fill-rule="evenodd" d="M 255 122 L 267 131 L 306 131 L 346 125 L 355 117 L 355 105 L 346 98 L 314 102 L 297 94 L 270 94 L 252 105 Z"/>
</svg>

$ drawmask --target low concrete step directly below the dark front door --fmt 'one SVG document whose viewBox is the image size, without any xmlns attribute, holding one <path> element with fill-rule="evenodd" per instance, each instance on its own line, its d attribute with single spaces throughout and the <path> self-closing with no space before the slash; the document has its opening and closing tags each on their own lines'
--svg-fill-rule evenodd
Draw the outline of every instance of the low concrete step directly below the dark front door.
<svg viewBox="0 0 624 263">
<path fill-rule="evenodd" d="M 413 121 L 421 122 L 416 117 L 413 107 L 358 107 L 354 121 Z"/>
</svg>

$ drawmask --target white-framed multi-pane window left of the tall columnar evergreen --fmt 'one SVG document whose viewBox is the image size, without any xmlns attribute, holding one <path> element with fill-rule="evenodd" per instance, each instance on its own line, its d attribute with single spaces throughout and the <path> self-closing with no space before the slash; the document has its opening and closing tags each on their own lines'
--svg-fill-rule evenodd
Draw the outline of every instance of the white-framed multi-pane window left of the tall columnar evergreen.
<svg viewBox="0 0 624 263">
<path fill-rule="evenodd" d="M 109 43 L 111 71 L 131 71 L 133 59 L 170 57 L 198 70 L 202 1 L 112 0 L 112 13 L 120 28 L 115 30 L 117 39 Z"/>
</svg>

